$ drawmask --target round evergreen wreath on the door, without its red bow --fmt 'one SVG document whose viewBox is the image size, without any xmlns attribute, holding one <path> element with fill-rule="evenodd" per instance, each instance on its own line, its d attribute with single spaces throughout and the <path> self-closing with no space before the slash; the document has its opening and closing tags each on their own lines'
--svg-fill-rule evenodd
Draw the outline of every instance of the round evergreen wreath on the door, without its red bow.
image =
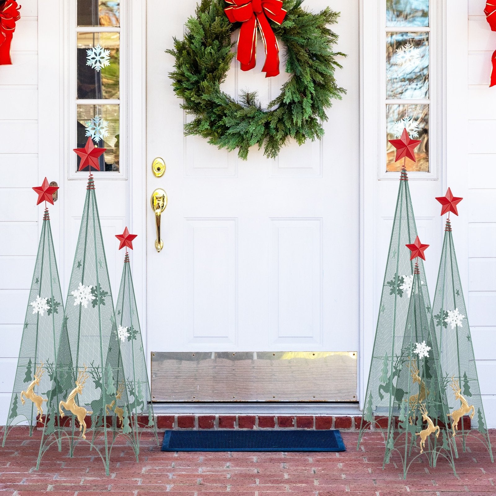
<svg viewBox="0 0 496 496">
<path fill-rule="evenodd" d="M 332 99 L 341 99 L 346 90 L 334 79 L 334 70 L 341 65 L 332 46 L 338 36 L 327 26 L 337 22 L 339 12 L 329 7 L 318 14 L 302 8 L 303 0 L 286 0 L 287 15 L 279 26 L 271 23 L 276 37 L 286 46 L 286 72 L 292 76 L 281 94 L 260 106 L 256 92 L 243 92 L 239 101 L 220 89 L 235 54 L 231 35 L 241 23 L 231 24 L 223 0 L 201 0 L 195 16 L 186 22 L 183 40 L 174 38 L 173 79 L 176 95 L 183 99 L 182 108 L 194 116 L 185 125 L 185 135 L 199 135 L 218 148 L 238 148 L 238 155 L 247 159 L 255 144 L 264 148 L 264 155 L 277 157 L 288 138 L 299 145 L 324 135 L 322 122 Z"/>
</svg>

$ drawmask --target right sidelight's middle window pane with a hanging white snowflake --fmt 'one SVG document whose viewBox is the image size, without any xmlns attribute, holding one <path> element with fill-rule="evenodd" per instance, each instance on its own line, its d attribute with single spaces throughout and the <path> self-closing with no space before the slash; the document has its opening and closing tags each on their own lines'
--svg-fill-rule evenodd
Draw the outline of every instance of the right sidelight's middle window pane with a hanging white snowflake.
<svg viewBox="0 0 496 496">
<path fill-rule="evenodd" d="M 429 33 L 387 35 L 386 98 L 429 98 Z"/>
</svg>

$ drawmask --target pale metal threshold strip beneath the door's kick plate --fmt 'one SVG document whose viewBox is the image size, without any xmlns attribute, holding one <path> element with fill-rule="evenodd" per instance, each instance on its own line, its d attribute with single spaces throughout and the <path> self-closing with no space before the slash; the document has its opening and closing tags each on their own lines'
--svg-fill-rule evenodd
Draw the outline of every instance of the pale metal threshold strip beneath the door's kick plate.
<svg viewBox="0 0 496 496">
<path fill-rule="evenodd" d="M 193 415 L 362 415 L 358 403 L 154 403 L 156 415 L 193 414 Z"/>
</svg>

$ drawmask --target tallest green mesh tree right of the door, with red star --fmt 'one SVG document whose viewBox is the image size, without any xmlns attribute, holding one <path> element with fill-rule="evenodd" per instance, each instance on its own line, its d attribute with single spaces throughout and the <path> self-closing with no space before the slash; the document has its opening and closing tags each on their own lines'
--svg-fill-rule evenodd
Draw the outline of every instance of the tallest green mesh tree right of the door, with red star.
<svg viewBox="0 0 496 496">
<path fill-rule="evenodd" d="M 389 462 L 392 450 L 397 449 L 402 456 L 403 475 L 406 476 L 410 461 L 420 455 L 421 448 L 416 441 L 423 430 L 424 409 L 436 425 L 438 409 L 442 405 L 433 405 L 434 398 L 429 398 L 430 402 L 426 403 L 430 396 L 424 394 L 426 379 L 436 377 L 436 341 L 434 329 L 428 324 L 431 305 L 424 265 L 419 260 L 414 266 L 407 248 L 407 245 L 413 246 L 414 241 L 418 242 L 418 237 L 406 158 L 415 161 L 413 150 L 420 141 L 410 139 L 405 129 L 400 139 L 390 142 L 397 149 L 396 161 L 405 161 L 400 175 L 358 446 L 366 430 L 371 425 L 375 426 L 382 432 L 386 445 L 384 465 Z M 422 346 L 423 343 L 433 350 L 431 360 L 422 361 L 414 353 L 417 344 Z M 429 382 L 431 380 L 429 378 Z M 434 394 L 436 390 L 434 384 Z M 399 428 L 395 425 L 397 419 L 401 419 Z M 449 440 L 447 446 L 444 451 L 450 453 Z M 427 453 L 429 462 L 435 464 L 440 452 L 437 444 L 434 442 L 433 446 L 431 439 L 427 441 L 426 438 L 422 451 L 422 454 Z"/>
</svg>

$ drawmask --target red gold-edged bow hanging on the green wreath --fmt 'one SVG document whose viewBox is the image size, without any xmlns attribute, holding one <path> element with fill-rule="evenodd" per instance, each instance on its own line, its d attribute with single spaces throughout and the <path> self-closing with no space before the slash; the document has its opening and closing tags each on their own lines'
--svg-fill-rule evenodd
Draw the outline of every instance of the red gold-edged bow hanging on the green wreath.
<svg viewBox="0 0 496 496">
<path fill-rule="evenodd" d="M 260 30 L 265 45 L 265 64 L 262 72 L 265 77 L 279 74 L 279 45 L 270 27 L 267 17 L 277 24 L 282 24 L 286 10 L 281 0 L 226 0 L 232 6 L 224 9 L 232 22 L 242 22 L 238 40 L 238 60 L 241 70 L 250 70 L 256 64 L 256 38 Z"/>
</svg>

